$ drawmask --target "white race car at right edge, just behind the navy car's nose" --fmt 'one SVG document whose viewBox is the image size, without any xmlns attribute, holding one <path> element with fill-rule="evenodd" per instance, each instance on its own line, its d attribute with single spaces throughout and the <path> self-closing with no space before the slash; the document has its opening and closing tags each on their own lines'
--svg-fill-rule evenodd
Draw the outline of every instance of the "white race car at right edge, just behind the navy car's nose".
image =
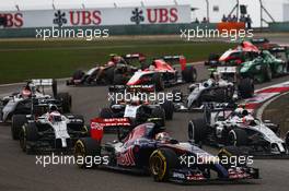
<svg viewBox="0 0 289 191">
<path fill-rule="evenodd" d="M 244 154 L 265 156 L 286 156 L 289 154 L 289 133 L 286 141 L 277 134 L 279 127 L 269 121 L 262 122 L 246 109 L 216 104 L 207 104 L 204 118 L 188 123 L 188 138 L 195 143 L 240 148 Z"/>
</svg>

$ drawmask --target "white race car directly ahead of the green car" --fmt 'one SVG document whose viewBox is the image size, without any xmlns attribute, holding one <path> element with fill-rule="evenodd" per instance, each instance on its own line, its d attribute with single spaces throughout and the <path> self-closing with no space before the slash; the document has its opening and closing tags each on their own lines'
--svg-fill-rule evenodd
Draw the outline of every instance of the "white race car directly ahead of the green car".
<svg viewBox="0 0 289 191">
<path fill-rule="evenodd" d="M 239 98 L 248 98 L 254 95 L 254 83 L 250 79 L 242 79 L 238 84 L 220 79 L 216 72 L 209 80 L 192 84 L 188 95 L 174 89 L 174 108 L 176 111 L 194 111 L 203 108 L 204 103 L 231 103 Z"/>
</svg>

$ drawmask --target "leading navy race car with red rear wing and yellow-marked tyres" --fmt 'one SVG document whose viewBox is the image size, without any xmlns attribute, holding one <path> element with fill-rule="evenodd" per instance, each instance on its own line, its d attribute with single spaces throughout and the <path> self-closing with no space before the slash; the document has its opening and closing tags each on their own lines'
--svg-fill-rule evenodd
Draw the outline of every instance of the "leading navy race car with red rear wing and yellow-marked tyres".
<svg viewBox="0 0 289 191">
<path fill-rule="evenodd" d="M 258 178 L 258 169 L 246 165 L 213 164 L 211 160 L 217 157 L 190 142 L 172 139 L 154 123 L 140 124 L 123 140 L 101 144 L 103 127 L 112 124 L 123 126 L 122 120 L 92 120 L 91 138 L 80 139 L 76 143 L 74 156 L 80 168 L 99 167 L 147 174 L 152 175 L 155 181 L 183 183 Z M 101 159 L 101 163 L 84 159 L 95 157 Z M 198 163 L 189 164 L 188 160 L 193 157 Z M 216 177 L 212 171 L 217 172 Z"/>
</svg>

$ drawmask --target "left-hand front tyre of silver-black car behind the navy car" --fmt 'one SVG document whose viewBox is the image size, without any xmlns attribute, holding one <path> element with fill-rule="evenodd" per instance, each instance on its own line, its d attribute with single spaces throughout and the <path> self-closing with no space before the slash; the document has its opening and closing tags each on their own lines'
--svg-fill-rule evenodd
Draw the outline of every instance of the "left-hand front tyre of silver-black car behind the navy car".
<svg viewBox="0 0 289 191">
<path fill-rule="evenodd" d="M 21 128 L 19 140 L 22 151 L 31 154 L 33 148 L 27 146 L 27 142 L 35 142 L 38 140 L 37 126 L 34 122 L 24 124 Z"/>
</svg>

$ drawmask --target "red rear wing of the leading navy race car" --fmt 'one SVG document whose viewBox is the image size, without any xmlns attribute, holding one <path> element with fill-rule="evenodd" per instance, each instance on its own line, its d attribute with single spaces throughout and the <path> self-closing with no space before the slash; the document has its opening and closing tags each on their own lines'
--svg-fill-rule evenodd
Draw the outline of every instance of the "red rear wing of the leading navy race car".
<svg viewBox="0 0 289 191">
<path fill-rule="evenodd" d="M 101 143 L 104 134 L 104 129 L 108 128 L 129 128 L 131 123 L 128 118 L 94 118 L 91 120 L 91 138 Z M 119 131 L 118 131 L 119 138 Z"/>
</svg>

